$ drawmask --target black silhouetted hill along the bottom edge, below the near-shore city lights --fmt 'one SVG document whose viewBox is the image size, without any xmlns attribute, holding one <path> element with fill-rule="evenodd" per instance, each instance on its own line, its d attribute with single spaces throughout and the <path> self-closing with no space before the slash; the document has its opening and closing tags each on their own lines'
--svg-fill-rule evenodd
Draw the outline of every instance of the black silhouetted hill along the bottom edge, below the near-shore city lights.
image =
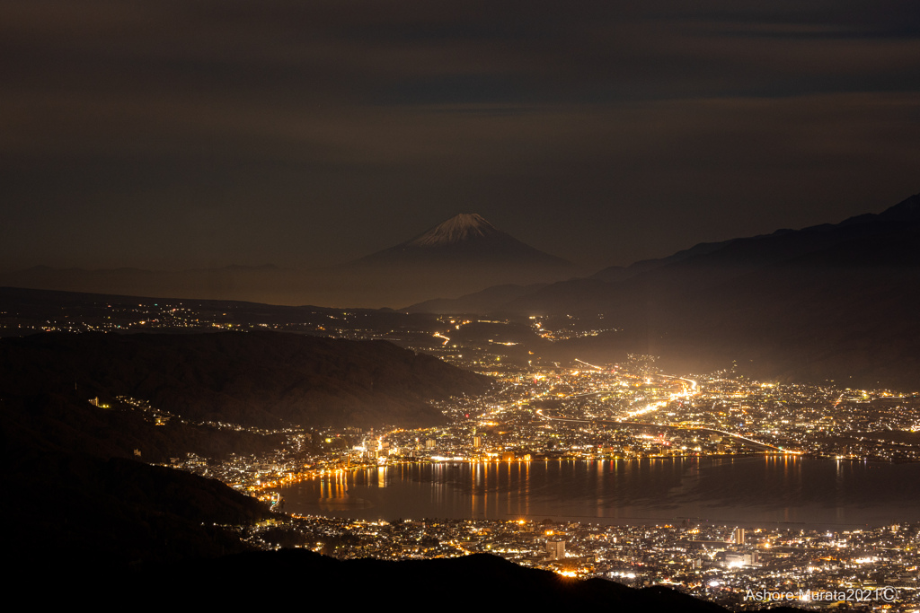
<svg viewBox="0 0 920 613">
<path fill-rule="evenodd" d="M 91 576 L 81 569 L 55 577 L 45 602 L 90 596 Z M 146 606 L 193 602 L 204 607 L 264 607 L 312 603 L 322 607 L 422 607 L 487 611 L 604 610 L 610 613 L 727 609 L 664 587 L 635 589 L 604 579 L 580 581 L 527 569 L 497 556 L 385 562 L 339 561 L 305 550 L 259 551 L 215 560 L 154 565 L 141 572 L 107 574 L 107 598 Z M 38 583 L 38 582 L 37 582 Z M 64 589 L 64 594 L 61 592 Z"/>
</svg>

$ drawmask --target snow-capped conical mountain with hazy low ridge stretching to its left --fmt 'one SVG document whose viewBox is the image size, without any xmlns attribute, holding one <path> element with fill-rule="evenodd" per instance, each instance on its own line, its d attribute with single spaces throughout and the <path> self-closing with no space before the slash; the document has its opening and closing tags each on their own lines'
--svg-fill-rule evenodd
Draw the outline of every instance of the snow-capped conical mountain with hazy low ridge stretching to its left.
<svg viewBox="0 0 920 613">
<path fill-rule="evenodd" d="M 581 274 L 566 260 L 461 213 L 403 243 L 336 266 L 295 270 L 272 265 L 182 271 L 122 267 L 31 267 L 0 274 L 0 286 L 192 300 L 299 306 L 402 307 L 502 283 L 541 283 Z"/>
</svg>

